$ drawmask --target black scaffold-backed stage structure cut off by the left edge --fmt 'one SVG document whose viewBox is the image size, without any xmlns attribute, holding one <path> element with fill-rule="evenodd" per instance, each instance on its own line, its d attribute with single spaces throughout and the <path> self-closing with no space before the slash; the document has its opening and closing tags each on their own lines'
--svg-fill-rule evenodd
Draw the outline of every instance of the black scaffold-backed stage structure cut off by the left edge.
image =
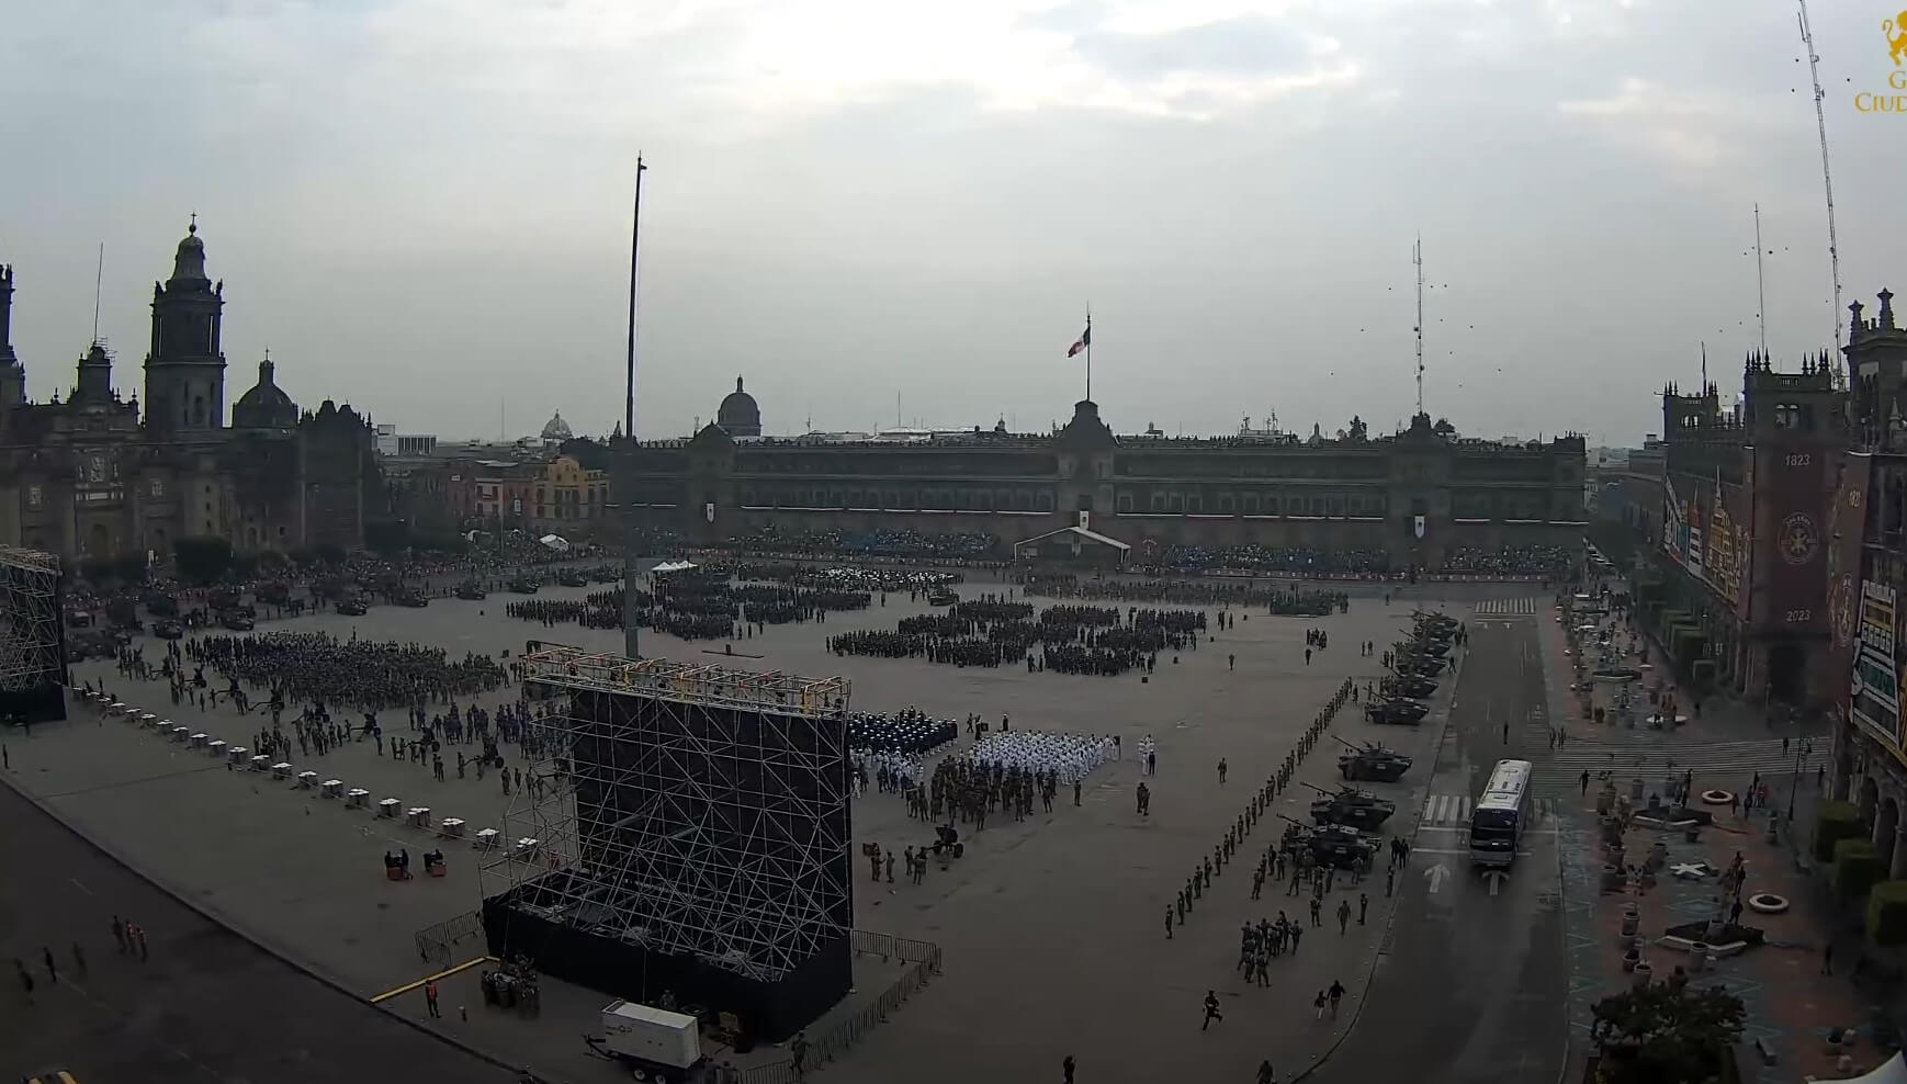
<svg viewBox="0 0 1907 1084">
<path fill-rule="evenodd" d="M 0 546 L 0 723 L 67 718 L 59 557 Z"/>
</svg>

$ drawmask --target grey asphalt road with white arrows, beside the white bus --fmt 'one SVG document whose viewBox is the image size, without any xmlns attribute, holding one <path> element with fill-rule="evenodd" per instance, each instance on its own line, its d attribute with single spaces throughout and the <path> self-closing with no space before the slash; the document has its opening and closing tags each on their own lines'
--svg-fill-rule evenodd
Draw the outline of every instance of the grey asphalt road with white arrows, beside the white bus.
<svg viewBox="0 0 1907 1084">
<path fill-rule="evenodd" d="M 1535 626 L 1470 622 L 1451 735 L 1438 758 L 1430 807 L 1466 809 L 1495 761 L 1548 754 L 1531 710 L 1543 704 Z M 1508 721 L 1508 742 L 1503 725 Z M 1409 1052 L 1417 1084 L 1547 1084 L 1562 1071 L 1568 962 L 1556 876 L 1554 819 L 1526 832 L 1508 878 L 1470 868 L 1461 815 L 1430 817 L 1400 876 L 1402 903 L 1356 1027 L 1310 1078 L 1390 1080 Z M 1501 880 L 1491 887 L 1491 880 Z"/>
</svg>

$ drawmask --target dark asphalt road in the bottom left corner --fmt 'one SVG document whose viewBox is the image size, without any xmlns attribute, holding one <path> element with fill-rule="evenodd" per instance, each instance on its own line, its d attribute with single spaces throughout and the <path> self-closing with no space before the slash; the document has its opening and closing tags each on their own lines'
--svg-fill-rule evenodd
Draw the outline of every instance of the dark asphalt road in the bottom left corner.
<svg viewBox="0 0 1907 1084">
<path fill-rule="evenodd" d="M 8 742 L 25 744 L 17 735 Z M 231 861 L 248 859 L 233 851 Z M 69 1069 L 82 1084 L 513 1078 L 212 926 L 4 784 L 0 866 L 8 870 L 0 876 L 0 1080 L 46 1069 Z M 145 926 L 147 962 L 118 952 L 114 914 Z M 42 948 L 53 952 L 57 981 L 48 981 Z M 13 960 L 32 971 L 31 998 Z"/>
</svg>

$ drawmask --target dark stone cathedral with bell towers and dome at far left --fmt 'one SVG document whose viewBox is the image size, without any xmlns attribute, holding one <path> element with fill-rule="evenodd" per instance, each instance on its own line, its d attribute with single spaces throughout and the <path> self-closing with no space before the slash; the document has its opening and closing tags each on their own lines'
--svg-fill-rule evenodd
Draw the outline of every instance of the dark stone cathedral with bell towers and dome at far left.
<svg viewBox="0 0 1907 1084">
<path fill-rule="evenodd" d="M 0 544 L 69 561 L 162 557 L 208 536 L 236 552 L 362 546 L 381 500 L 368 418 L 330 399 L 299 410 L 267 355 L 227 424 L 225 282 L 206 275 L 196 221 L 172 277 L 153 284 L 143 397 L 113 387 L 113 355 L 95 342 L 65 399 L 29 403 L 15 282 L 0 265 Z"/>
</svg>

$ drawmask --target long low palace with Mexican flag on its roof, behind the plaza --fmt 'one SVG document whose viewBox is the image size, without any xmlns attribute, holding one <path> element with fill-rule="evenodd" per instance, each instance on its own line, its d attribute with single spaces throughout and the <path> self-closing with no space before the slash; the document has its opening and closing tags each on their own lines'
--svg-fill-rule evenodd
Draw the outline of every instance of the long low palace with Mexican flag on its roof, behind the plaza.
<svg viewBox="0 0 1907 1084">
<path fill-rule="evenodd" d="M 1236 437 L 1114 435 L 1097 403 L 1051 433 L 973 431 L 763 437 L 740 389 L 681 441 L 629 460 L 641 523 L 715 544 L 765 529 L 984 532 L 1011 546 L 1093 531 L 1146 563 L 1169 546 L 1264 546 L 1381 555 L 1442 569 L 1465 553 L 1583 546 L 1581 435 L 1501 443 L 1417 416 L 1371 435 L 1241 429 Z"/>
</svg>

